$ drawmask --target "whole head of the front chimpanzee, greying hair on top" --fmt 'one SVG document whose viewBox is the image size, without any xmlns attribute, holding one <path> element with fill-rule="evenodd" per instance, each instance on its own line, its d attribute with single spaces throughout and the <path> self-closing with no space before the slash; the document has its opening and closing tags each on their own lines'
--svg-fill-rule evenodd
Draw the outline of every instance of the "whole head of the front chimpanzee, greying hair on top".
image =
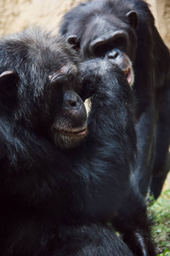
<svg viewBox="0 0 170 256">
<path fill-rule="evenodd" d="M 40 29 L 0 40 L 0 119 L 15 131 L 36 133 L 59 148 L 87 134 L 87 113 L 78 93 L 79 59 L 63 38 Z"/>
</svg>

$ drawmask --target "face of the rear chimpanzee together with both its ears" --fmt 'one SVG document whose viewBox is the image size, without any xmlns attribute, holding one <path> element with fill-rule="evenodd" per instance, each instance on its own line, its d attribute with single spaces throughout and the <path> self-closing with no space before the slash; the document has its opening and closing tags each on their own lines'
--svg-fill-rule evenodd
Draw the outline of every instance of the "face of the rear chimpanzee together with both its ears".
<svg viewBox="0 0 170 256">
<path fill-rule="evenodd" d="M 120 20 L 114 14 L 95 14 L 82 27 L 82 38 L 67 32 L 68 41 L 79 46 L 80 54 L 85 57 L 103 57 L 121 67 L 128 84 L 133 84 L 133 61 L 136 50 L 137 15 L 130 11 Z M 74 34 L 74 32 L 72 32 Z M 70 35 L 69 35 L 70 34 Z"/>
</svg>

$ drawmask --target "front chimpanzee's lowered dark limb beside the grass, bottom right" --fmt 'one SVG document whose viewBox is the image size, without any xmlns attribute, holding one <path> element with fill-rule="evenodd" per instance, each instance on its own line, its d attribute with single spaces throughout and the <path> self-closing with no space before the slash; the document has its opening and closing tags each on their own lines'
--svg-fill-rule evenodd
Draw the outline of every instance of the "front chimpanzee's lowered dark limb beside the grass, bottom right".
<svg viewBox="0 0 170 256">
<path fill-rule="evenodd" d="M 131 174 L 127 194 L 112 224 L 122 234 L 122 240 L 131 248 L 134 255 L 156 256 L 150 236 L 151 221 L 147 217 L 145 200 L 139 192 L 136 176 L 137 172 Z"/>
</svg>

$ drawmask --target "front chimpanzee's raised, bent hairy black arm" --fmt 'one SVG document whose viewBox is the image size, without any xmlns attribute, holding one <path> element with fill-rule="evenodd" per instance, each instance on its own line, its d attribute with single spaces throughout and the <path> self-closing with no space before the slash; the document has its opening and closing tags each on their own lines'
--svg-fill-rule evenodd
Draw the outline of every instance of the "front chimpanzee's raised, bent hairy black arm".
<svg viewBox="0 0 170 256">
<path fill-rule="evenodd" d="M 121 69 L 108 61 L 85 61 L 80 73 L 81 96 L 91 96 L 85 149 L 77 150 L 77 162 L 88 163 L 82 164 L 91 180 L 88 208 L 114 215 L 126 193 L 135 154 L 133 95 Z M 101 205 L 105 211 L 99 210 Z"/>
</svg>

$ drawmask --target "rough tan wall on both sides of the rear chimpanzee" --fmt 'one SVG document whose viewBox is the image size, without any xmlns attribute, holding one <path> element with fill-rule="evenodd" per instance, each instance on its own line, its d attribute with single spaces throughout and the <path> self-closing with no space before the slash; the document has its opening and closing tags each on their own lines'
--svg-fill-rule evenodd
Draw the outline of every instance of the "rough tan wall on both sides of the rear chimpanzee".
<svg viewBox="0 0 170 256">
<path fill-rule="evenodd" d="M 156 26 L 170 48 L 170 0 L 146 0 L 156 17 Z M 62 15 L 84 0 L 0 0 L 0 35 L 37 24 L 57 28 Z"/>
</svg>

